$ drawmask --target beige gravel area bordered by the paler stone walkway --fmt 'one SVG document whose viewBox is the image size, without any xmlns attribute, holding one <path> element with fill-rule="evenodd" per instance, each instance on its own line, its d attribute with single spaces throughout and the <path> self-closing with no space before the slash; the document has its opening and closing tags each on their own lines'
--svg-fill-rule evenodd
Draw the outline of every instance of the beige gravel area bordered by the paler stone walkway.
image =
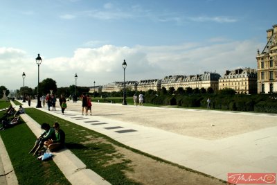
<svg viewBox="0 0 277 185">
<path fill-rule="evenodd" d="M 80 103 L 68 109 L 82 112 Z M 157 111 L 158 110 L 158 111 Z M 277 125 L 277 115 L 93 103 L 93 115 L 201 139 L 222 139 Z"/>
</svg>

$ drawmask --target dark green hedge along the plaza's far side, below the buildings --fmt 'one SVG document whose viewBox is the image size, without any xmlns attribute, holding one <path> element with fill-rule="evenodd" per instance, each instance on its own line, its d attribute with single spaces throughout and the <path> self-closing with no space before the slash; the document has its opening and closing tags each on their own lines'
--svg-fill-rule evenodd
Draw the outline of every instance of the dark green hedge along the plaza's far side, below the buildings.
<svg viewBox="0 0 277 185">
<path fill-rule="evenodd" d="M 178 105 L 180 107 L 207 107 L 207 99 L 211 99 L 212 109 L 231 111 L 255 111 L 277 113 L 277 99 L 270 94 L 256 95 L 222 95 L 222 94 L 186 94 L 186 95 L 147 95 L 146 103 L 154 105 Z M 277 97 L 277 96 L 276 96 Z"/>
</svg>

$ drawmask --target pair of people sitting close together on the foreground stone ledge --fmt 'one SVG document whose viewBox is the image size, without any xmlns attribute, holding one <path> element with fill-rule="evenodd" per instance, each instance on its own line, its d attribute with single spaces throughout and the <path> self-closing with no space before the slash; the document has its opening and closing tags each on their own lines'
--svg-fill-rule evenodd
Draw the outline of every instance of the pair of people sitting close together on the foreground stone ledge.
<svg viewBox="0 0 277 185">
<path fill-rule="evenodd" d="M 44 132 L 37 138 L 35 146 L 29 153 L 34 152 L 33 155 L 35 156 L 43 147 L 50 151 L 64 148 L 65 134 L 64 131 L 60 129 L 59 123 L 54 123 L 53 127 L 48 123 L 42 123 L 41 127 Z"/>
</svg>

